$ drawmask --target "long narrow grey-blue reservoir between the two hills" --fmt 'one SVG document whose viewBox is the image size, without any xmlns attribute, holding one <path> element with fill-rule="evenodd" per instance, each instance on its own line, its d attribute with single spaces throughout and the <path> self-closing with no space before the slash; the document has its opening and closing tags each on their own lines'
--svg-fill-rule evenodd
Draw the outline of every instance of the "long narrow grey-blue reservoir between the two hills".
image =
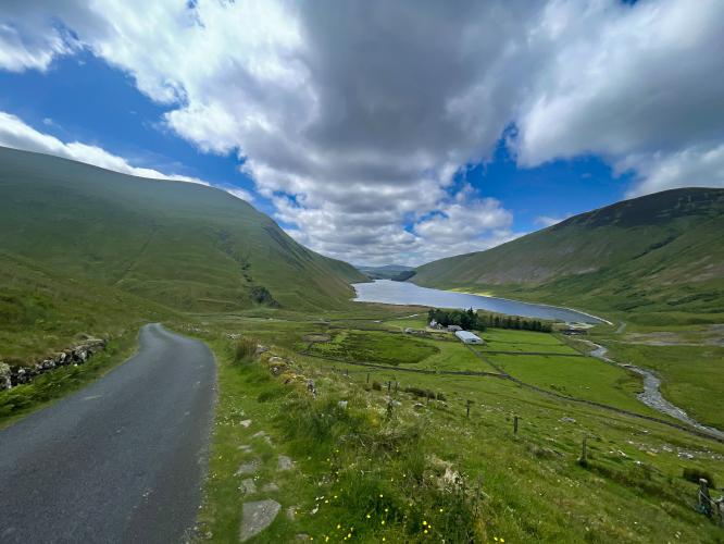
<svg viewBox="0 0 724 544">
<path fill-rule="evenodd" d="M 359 302 L 383 302 L 390 305 L 432 306 L 435 308 L 459 308 L 487 310 L 495 313 L 521 316 L 523 318 L 548 319 L 556 321 L 578 323 L 603 323 L 602 319 L 567 308 L 536 305 L 509 300 L 507 298 L 470 295 L 452 290 L 430 289 L 420 287 L 409 282 L 392 282 L 391 280 L 375 280 L 370 283 L 355 283 Z"/>
</svg>

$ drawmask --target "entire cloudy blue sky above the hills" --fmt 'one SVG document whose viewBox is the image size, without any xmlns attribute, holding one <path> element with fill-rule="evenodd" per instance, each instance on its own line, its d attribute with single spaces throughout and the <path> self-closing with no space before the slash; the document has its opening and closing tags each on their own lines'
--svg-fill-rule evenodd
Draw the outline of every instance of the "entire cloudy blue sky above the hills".
<svg viewBox="0 0 724 544">
<path fill-rule="evenodd" d="M 416 265 L 724 187 L 722 28 L 721 0 L 3 0 L 0 145 Z"/>
</svg>

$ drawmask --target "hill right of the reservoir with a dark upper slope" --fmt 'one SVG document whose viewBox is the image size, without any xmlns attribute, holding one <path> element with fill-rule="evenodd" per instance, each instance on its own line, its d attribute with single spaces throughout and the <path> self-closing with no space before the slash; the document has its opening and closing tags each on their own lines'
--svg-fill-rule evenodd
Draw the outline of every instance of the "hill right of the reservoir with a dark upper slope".
<svg viewBox="0 0 724 544">
<path fill-rule="evenodd" d="M 601 311 L 724 312 L 724 189 L 624 200 L 424 264 L 411 281 Z"/>
</svg>

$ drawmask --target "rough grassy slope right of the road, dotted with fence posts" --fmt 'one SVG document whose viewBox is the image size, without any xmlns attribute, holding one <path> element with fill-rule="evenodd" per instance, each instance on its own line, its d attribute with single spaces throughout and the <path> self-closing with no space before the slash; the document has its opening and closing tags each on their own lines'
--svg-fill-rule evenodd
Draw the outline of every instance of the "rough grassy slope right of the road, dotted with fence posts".
<svg viewBox="0 0 724 544">
<path fill-rule="evenodd" d="M 288 542 L 300 533 L 321 542 L 327 536 L 339 542 L 348 534 L 359 542 L 716 542 L 721 536 L 720 529 L 690 507 L 696 484 L 681 478 L 685 467 L 702 468 L 717 480 L 724 477 L 720 444 L 496 378 L 333 364 L 284 347 L 272 349 L 290 361 L 278 378 L 258 362 L 233 363 L 229 333 L 261 335 L 264 342 L 294 347 L 309 333 L 347 332 L 346 342 L 351 333 L 377 337 L 380 330 L 397 330 L 395 320 L 376 331 L 357 329 L 359 322 L 337 321 L 330 329 L 288 317 L 269 331 L 262 320 L 238 316 L 210 320 L 205 331 L 196 332 L 217 355 L 221 385 L 202 534 L 213 542 L 232 542 L 241 504 L 275 498 L 285 509 L 294 507 L 296 516 L 280 515 L 253 542 Z M 540 333 L 497 333 L 491 331 L 490 339 L 498 347 L 554 342 Z M 375 358 L 388 359 L 411 341 L 390 334 L 387 342 L 374 343 L 379 350 Z M 451 345 L 435 344 L 440 350 L 430 358 L 439 358 Z M 348 357 L 371 355 L 357 349 L 358 342 L 349 347 Z M 450 351 L 449 363 L 455 361 L 466 364 Z M 521 356 L 516 364 L 525 363 Z M 550 379 L 537 364 L 527 372 L 541 382 Z M 367 374 L 373 382 L 392 380 L 442 392 L 447 404 L 415 407 L 420 399 L 400 388 L 395 397 L 400 404 L 387 419 L 386 387 L 370 388 Z M 320 391 L 316 400 L 305 392 L 308 378 Z M 610 387 L 615 384 L 601 382 L 597 394 L 606 395 Z M 348 407 L 340 408 L 339 400 Z M 467 400 L 473 400 L 470 419 Z M 513 413 L 522 417 L 516 437 L 511 432 Z M 239 424 L 245 419 L 251 419 L 249 428 Z M 271 436 L 271 444 L 254 437 L 259 431 Z M 590 463 L 584 469 L 576 459 L 586 435 L 591 436 Z M 250 452 L 240 448 L 245 444 Z M 279 454 L 296 460 L 290 473 L 275 470 Z M 694 459 L 687 459 L 689 455 Z M 254 458 L 261 463 L 257 492 L 245 495 L 239 484 L 247 477 L 235 472 Z M 445 462 L 462 475 L 466 491 L 453 482 L 441 484 Z M 262 491 L 267 482 L 280 489 Z"/>
</svg>

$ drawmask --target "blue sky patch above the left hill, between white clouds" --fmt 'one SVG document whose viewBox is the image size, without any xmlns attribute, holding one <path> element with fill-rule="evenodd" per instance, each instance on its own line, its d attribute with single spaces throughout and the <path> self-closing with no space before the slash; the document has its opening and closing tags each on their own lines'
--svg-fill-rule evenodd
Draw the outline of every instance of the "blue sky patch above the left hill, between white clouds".
<svg viewBox="0 0 724 544">
<path fill-rule="evenodd" d="M 63 141 L 96 145 L 136 166 L 253 189 L 236 156 L 200 152 L 160 122 L 166 108 L 89 52 L 63 57 L 46 72 L 0 71 L 0 111 Z M 272 209 L 263 202 L 258 208 Z"/>
</svg>

